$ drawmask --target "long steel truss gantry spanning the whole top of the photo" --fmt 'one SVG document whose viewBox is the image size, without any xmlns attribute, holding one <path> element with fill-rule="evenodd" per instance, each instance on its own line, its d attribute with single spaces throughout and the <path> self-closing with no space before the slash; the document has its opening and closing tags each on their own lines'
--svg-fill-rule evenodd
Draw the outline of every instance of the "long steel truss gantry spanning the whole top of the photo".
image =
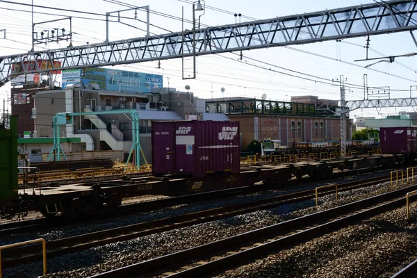
<svg viewBox="0 0 417 278">
<path fill-rule="evenodd" d="M 34 72 L 140 63 L 413 31 L 417 29 L 416 3 L 416 0 L 379 1 L 145 38 L 2 56 L 0 86 L 16 75 Z M 42 68 L 42 63 L 35 63 L 37 60 L 47 60 L 51 67 Z"/>
</svg>

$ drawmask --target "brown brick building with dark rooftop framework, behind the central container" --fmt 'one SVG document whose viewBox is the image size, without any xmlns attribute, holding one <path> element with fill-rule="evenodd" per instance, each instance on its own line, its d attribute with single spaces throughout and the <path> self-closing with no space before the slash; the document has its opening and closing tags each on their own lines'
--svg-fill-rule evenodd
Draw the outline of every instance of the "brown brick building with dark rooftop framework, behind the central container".
<svg viewBox="0 0 417 278">
<path fill-rule="evenodd" d="M 337 101 L 318 97 L 299 97 L 302 102 L 266 101 L 249 98 L 207 99 L 206 110 L 225 113 L 240 122 L 241 148 L 252 140 L 281 140 L 292 147 L 293 142 L 339 141 L 340 117 Z M 335 105 L 336 104 L 336 105 Z M 351 138 L 352 120 L 346 120 L 347 138 Z"/>
</svg>

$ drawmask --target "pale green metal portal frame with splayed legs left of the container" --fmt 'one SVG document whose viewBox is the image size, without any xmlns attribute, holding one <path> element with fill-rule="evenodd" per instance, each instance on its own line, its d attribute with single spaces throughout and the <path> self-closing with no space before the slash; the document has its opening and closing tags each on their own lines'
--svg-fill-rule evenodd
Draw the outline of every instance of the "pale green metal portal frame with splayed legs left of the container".
<svg viewBox="0 0 417 278">
<path fill-rule="evenodd" d="M 139 142 L 139 112 L 133 109 L 128 110 L 117 110 L 117 111 L 93 111 L 93 112 L 72 112 L 72 113 L 57 113 L 54 116 L 54 147 L 52 147 L 51 152 L 49 153 L 47 161 L 51 159 L 54 152 L 56 159 L 60 161 L 60 154 L 62 153 L 65 161 L 67 161 L 67 156 L 60 146 L 60 133 L 59 126 L 63 124 L 72 124 L 74 116 L 82 115 L 111 115 L 111 114 L 130 114 L 132 117 L 132 147 L 129 152 L 129 157 L 127 158 L 127 163 L 129 163 L 130 158 L 135 153 L 135 165 L 140 168 L 140 142 Z"/>
</svg>

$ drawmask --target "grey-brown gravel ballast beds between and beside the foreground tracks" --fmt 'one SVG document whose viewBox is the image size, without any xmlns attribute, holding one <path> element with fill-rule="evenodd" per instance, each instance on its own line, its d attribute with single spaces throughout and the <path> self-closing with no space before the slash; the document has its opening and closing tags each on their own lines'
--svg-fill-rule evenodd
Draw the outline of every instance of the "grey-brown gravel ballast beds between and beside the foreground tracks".
<svg viewBox="0 0 417 278">
<path fill-rule="evenodd" d="M 363 178 L 363 176 L 361 176 Z M 309 185 L 309 188 L 318 186 Z M 297 186 L 293 190 L 306 190 L 308 186 Z M 45 277 L 88 277 L 100 272 L 113 270 L 122 266 L 138 263 L 157 256 L 163 256 L 172 252 L 178 252 L 190 247 L 211 243 L 236 234 L 277 224 L 291 220 L 302 215 L 308 215 L 327 208 L 354 202 L 373 195 L 388 192 L 389 184 L 382 183 L 368 188 L 359 188 L 350 192 L 339 193 L 336 201 L 335 195 L 319 198 L 320 206 L 315 206 L 315 200 L 311 199 L 297 204 L 272 208 L 266 211 L 256 211 L 245 215 L 236 215 L 232 218 L 195 224 L 190 227 L 165 231 L 161 234 L 152 234 L 94 247 L 82 252 L 67 254 L 56 258 L 47 259 L 48 275 Z M 172 217 L 202 209 L 218 206 L 229 206 L 249 202 L 254 199 L 263 199 L 273 195 L 286 194 L 288 191 L 275 190 L 268 193 L 238 196 L 218 201 L 202 202 L 200 204 L 177 206 L 175 209 L 164 209 L 154 213 L 140 213 L 129 215 L 126 218 L 113 222 L 100 220 L 95 223 L 86 223 L 80 227 L 68 227 L 54 229 L 47 233 L 19 235 L 21 238 L 45 237 L 47 240 L 67 237 L 75 234 L 83 234 L 85 231 L 108 229 L 125 224 L 133 224 L 154 220 L 157 218 Z M 412 205 L 412 211 L 417 212 Z M 219 277 L 378 277 L 378 276 L 349 276 L 351 273 L 365 273 L 366 270 L 381 271 L 393 268 L 401 263 L 416 248 L 417 227 L 405 220 L 404 208 L 397 211 L 379 215 L 363 224 L 347 227 L 341 231 L 317 238 L 305 244 L 261 258 L 260 261 L 249 263 L 240 268 L 228 270 Z M 416 219 L 414 219 L 415 221 Z M 17 242 L 15 236 L 10 239 Z M 7 241 L 8 239 L 1 239 Z M 378 249 L 379 248 L 379 249 Z M 396 248 L 400 249 L 397 250 Z M 378 254 L 377 267 L 370 262 Z M 343 265 L 334 268 L 338 264 Z M 364 265 L 370 264 L 368 268 Z M 355 266 L 357 265 L 357 266 Z M 361 266 L 362 265 L 362 266 Z M 334 271 L 335 274 L 329 272 Z M 343 271 L 342 271 L 343 270 Z M 38 277 L 42 273 L 42 263 L 29 263 L 18 268 L 3 270 L 4 277 Z M 343 276 L 346 275 L 347 276 Z M 375 272 L 375 275 L 377 273 Z"/>
</svg>

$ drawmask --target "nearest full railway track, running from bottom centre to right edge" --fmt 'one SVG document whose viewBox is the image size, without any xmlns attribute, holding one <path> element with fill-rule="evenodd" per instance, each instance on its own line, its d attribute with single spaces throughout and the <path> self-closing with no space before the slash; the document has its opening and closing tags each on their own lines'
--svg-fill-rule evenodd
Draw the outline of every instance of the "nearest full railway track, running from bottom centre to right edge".
<svg viewBox="0 0 417 278">
<path fill-rule="evenodd" d="M 350 224 L 356 224 L 361 220 L 404 206 L 404 196 L 416 189 L 417 186 L 409 186 L 408 188 L 281 222 L 238 236 L 104 272 L 93 277 L 213 276 L 215 273 L 221 273 L 231 268 L 231 266 L 254 261 L 256 258 L 271 252 L 285 250 L 288 247 L 329 234 Z M 164 265 L 162 269 L 161 265 Z M 404 275 L 415 273 L 413 271 L 416 270 L 416 267 L 416 262 L 409 265 L 409 270 L 404 270 Z"/>
</svg>

